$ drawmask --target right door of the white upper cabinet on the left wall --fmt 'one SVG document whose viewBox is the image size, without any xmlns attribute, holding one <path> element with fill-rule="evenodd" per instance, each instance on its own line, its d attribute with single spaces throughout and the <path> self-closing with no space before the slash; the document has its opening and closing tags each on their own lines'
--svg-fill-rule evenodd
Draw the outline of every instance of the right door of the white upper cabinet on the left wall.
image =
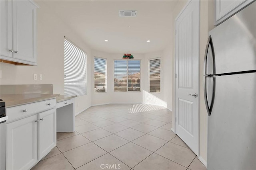
<svg viewBox="0 0 256 170">
<path fill-rule="evenodd" d="M 13 1 L 14 58 L 36 63 L 35 27 L 36 6 L 30 1 Z"/>
</svg>

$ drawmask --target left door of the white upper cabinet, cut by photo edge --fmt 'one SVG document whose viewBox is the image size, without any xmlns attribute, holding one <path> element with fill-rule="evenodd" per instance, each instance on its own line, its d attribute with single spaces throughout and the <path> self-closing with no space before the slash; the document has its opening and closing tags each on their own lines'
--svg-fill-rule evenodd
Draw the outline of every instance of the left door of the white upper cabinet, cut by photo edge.
<svg viewBox="0 0 256 170">
<path fill-rule="evenodd" d="M 12 1 L 1 0 L 1 56 L 12 57 Z"/>
</svg>

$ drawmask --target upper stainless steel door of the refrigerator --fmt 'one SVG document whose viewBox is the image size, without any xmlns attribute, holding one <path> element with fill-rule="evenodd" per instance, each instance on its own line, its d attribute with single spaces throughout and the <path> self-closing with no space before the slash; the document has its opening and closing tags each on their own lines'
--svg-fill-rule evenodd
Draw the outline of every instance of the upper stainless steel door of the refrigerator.
<svg viewBox="0 0 256 170">
<path fill-rule="evenodd" d="M 256 70 L 256 2 L 209 32 L 216 74 Z"/>
</svg>

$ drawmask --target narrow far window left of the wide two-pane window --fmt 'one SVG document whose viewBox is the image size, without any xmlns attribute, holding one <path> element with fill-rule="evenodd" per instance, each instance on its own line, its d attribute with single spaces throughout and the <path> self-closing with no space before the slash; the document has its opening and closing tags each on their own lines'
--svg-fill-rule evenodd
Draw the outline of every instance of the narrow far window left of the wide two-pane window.
<svg viewBox="0 0 256 170">
<path fill-rule="evenodd" d="M 94 57 L 94 92 L 106 92 L 106 59 Z"/>
</svg>

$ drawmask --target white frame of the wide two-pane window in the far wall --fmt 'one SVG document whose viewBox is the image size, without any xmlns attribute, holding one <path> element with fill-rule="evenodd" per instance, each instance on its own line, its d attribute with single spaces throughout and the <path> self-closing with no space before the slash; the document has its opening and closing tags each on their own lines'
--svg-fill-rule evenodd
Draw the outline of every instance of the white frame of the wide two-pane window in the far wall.
<svg viewBox="0 0 256 170">
<path fill-rule="evenodd" d="M 113 59 L 113 77 L 114 77 L 114 89 L 113 89 L 113 92 L 115 93 L 115 61 L 126 61 L 126 64 L 127 64 L 127 68 L 126 68 L 126 92 L 121 92 L 121 93 L 127 93 L 127 92 L 142 92 L 141 90 L 141 59 Z M 132 91 L 129 91 L 128 90 L 128 61 L 140 61 L 140 90 L 139 91 L 136 91 L 136 90 L 132 90 Z M 120 93 L 120 92 L 117 92 L 117 93 Z"/>
</svg>

